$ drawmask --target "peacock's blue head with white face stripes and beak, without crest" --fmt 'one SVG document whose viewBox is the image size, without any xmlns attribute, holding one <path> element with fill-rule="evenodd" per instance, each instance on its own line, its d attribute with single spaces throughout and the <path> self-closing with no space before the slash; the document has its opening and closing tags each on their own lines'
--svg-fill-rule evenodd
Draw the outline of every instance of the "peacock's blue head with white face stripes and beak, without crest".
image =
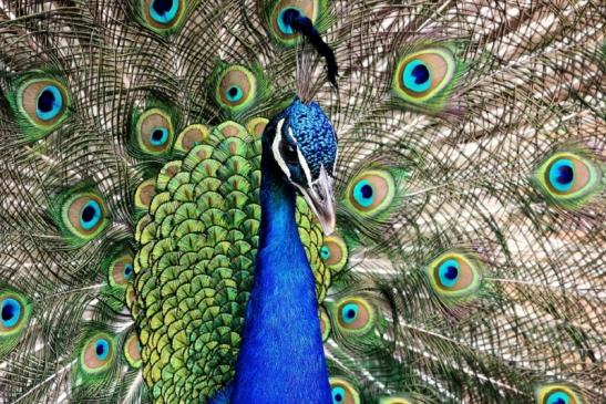
<svg viewBox="0 0 606 404">
<path fill-rule="evenodd" d="M 318 217 L 323 232 L 335 230 L 337 135 L 320 106 L 295 100 L 267 134 L 271 156 Z"/>
</svg>

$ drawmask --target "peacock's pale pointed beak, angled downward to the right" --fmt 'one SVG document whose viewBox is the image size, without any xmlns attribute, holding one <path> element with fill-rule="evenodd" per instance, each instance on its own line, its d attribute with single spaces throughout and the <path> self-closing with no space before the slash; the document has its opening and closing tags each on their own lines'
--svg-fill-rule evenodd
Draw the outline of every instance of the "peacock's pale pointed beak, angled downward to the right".
<svg viewBox="0 0 606 404">
<path fill-rule="evenodd" d="M 311 183 L 308 188 L 301 189 L 307 204 L 320 221 L 325 236 L 330 236 L 335 231 L 337 221 L 332 185 L 332 177 L 328 175 L 322 166 L 318 179 Z"/>
</svg>

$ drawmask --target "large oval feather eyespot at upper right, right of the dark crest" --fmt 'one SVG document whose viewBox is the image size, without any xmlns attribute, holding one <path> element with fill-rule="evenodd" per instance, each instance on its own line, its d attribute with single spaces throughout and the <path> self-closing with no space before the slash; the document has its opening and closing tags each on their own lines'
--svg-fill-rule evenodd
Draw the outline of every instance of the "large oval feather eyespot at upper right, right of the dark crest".
<svg viewBox="0 0 606 404">
<path fill-rule="evenodd" d="M 450 50 L 429 48 L 404 54 L 393 75 L 396 95 L 412 104 L 434 100 L 454 79 L 456 62 Z"/>
</svg>

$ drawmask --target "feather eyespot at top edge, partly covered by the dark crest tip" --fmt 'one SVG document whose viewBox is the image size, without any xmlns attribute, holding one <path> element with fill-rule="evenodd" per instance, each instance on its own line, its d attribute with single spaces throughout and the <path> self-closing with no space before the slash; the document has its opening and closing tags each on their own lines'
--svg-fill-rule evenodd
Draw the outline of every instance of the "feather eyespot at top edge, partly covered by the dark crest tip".
<svg viewBox="0 0 606 404">
<path fill-rule="evenodd" d="M 281 0 L 276 3 L 270 14 L 270 27 L 274 37 L 283 44 L 296 43 L 299 33 L 288 24 L 288 17 L 305 15 L 314 24 L 318 21 L 320 9 L 326 8 L 325 1 L 320 0 Z M 290 14 L 290 15 L 289 15 Z"/>
</svg>

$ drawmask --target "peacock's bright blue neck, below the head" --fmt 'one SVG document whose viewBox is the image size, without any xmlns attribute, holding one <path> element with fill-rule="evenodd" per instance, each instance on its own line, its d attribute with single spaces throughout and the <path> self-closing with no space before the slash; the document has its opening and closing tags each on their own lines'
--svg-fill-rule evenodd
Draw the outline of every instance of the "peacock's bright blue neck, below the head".
<svg viewBox="0 0 606 404">
<path fill-rule="evenodd" d="M 255 281 L 232 404 L 329 404 L 316 282 L 295 221 L 295 191 L 267 155 Z"/>
</svg>

